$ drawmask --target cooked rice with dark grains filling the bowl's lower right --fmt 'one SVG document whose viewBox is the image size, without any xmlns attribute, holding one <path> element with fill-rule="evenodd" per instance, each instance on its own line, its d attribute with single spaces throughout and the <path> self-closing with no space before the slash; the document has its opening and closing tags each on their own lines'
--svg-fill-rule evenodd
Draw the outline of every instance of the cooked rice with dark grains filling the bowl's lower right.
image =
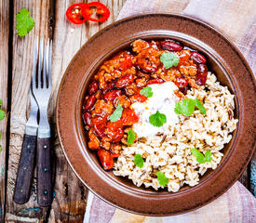
<svg viewBox="0 0 256 223">
<path fill-rule="evenodd" d="M 163 188 L 159 185 L 156 173 L 162 171 L 168 177 L 168 191 L 176 192 L 187 184 L 191 187 L 199 182 L 200 176 L 208 169 L 216 169 L 222 161 L 222 149 L 228 143 L 236 129 L 234 119 L 234 95 L 226 86 L 216 82 L 214 74 L 208 73 L 205 86 L 188 91 L 187 98 L 198 98 L 203 101 L 206 114 L 195 110 L 191 116 L 179 115 L 179 123 L 169 126 L 166 136 L 143 138 L 131 146 L 123 146 L 115 163 L 114 174 L 128 177 L 135 185 L 142 184 L 155 190 Z M 191 154 L 191 149 L 212 153 L 211 162 L 199 164 Z M 143 167 L 134 164 L 134 155 L 141 154 Z"/>
</svg>

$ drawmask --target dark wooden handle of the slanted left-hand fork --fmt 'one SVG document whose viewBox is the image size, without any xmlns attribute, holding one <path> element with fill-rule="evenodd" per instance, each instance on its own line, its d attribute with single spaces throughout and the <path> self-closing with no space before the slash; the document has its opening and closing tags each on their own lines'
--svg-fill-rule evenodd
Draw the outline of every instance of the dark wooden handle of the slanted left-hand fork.
<svg viewBox="0 0 256 223">
<path fill-rule="evenodd" d="M 27 203 L 30 198 L 31 179 L 34 167 L 36 136 L 24 135 L 20 154 L 20 164 L 16 178 L 13 201 Z"/>
</svg>

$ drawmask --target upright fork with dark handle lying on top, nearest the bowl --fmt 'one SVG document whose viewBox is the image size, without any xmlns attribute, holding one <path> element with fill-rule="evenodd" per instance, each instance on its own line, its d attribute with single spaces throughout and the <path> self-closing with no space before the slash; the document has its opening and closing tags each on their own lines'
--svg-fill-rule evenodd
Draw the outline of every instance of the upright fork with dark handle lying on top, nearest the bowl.
<svg viewBox="0 0 256 223">
<path fill-rule="evenodd" d="M 52 92 L 51 83 L 52 41 L 40 40 L 38 72 L 32 82 L 34 98 L 37 101 L 40 118 L 37 130 L 37 203 L 48 206 L 52 202 L 50 167 L 50 127 L 47 107 Z M 43 64 L 43 72 L 42 72 Z M 36 82 L 37 80 L 37 82 Z"/>
</svg>

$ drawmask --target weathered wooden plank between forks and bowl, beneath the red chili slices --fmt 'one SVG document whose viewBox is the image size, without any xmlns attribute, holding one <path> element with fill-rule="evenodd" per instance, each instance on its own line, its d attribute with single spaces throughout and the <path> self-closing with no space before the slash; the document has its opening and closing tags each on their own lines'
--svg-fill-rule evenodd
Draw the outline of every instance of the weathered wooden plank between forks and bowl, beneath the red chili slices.
<svg viewBox="0 0 256 223">
<path fill-rule="evenodd" d="M 74 25 L 67 20 L 63 20 L 65 10 L 74 1 L 56 2 L 56 20 L 54 30 L 53 47 L 53 85 L 54 92 L 52 103 L 50 105 L 50 114 L 54 123 L 54 110 L 56 97 L 61 83 L 61 77 L 64 74 L 70 60 L 74 57 L 77 50 L 101 28 L 112 23 L 123 6 L 123 1 L 101 1 L 111 8 L 111 18 L 102 24 L 87 21 L 80 26 Z M 56 132 L 56 131 L 55 131 Z M 87 204 L 88 190 L 77 177 L 75 177 L 69 164 L 67 164 L 58 138 L 55 141 L 55 152 L 57 157 L 55 194 L 56 197 L 52 203 L 49 222 L 82 222 Z"/>
</svg>

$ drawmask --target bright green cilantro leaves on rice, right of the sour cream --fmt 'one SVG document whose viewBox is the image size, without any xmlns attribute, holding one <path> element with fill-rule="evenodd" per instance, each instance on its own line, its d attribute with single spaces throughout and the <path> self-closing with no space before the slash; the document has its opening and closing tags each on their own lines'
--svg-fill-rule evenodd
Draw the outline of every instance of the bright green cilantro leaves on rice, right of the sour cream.
<svg viewBox="0 0 256 223">
<path fill-rule="evenodd" d="M 197 99 L 185 98 L 175 104 L 174 112 L 177 114 L 185 114 L 190 116 L 195 111 L 195 107 L 203 114 L 206 113 L 206 109 L 203 104 Z"/>
</svg>

